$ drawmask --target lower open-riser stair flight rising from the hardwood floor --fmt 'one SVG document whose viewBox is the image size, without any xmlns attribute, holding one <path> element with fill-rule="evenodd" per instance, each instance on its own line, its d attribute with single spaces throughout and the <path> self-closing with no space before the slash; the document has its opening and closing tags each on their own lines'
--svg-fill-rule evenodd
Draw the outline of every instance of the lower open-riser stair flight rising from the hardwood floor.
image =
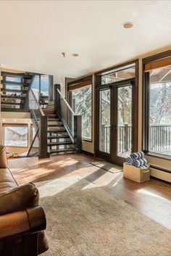
<svg viewBox="0 0 171 256">
<path fill-rule="evenodd" d="M 46 109 L 43 112 L 48 118 L 48 154 L 76 153 L 75 145 L 55 110 Z"/>
</svg>

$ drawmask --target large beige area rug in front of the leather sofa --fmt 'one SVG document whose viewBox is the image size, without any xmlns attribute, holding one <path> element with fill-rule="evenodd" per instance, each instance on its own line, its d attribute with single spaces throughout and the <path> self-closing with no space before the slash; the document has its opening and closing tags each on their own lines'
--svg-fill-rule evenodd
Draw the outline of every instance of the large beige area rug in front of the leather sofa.
<svg viewBox="0 0 171 256">
<path fill-rule="evenodd" d="M 170 256 L 171 231 L 80 176 L 36 184 L 46 211 L 44 256 Z"/>
</svg>

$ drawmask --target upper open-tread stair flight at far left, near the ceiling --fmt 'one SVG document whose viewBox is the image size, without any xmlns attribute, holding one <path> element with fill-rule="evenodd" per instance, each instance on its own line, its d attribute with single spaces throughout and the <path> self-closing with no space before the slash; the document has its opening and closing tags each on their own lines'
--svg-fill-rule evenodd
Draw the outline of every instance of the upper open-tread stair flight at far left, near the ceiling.
<svg viewBox="0 0 171 256">
<path fill-rule="evenodd" d="M 1 72 L 1 111 L 24 110 L 32 73 Z"/>
</svg>

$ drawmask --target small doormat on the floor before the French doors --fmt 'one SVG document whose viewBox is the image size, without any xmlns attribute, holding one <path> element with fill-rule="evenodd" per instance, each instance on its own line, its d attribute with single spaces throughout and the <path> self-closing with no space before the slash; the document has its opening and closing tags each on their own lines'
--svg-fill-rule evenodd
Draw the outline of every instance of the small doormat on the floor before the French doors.
<svg viewBox="0 0 171 256">
<path fill-rule="evenodd" d="M 123 170 L 122 167 L 105 161 L 91 162 L 91 165 L 95 165 L 101 169 L 108 170 L 110 173 L 121 173 Z"/>
</svg>

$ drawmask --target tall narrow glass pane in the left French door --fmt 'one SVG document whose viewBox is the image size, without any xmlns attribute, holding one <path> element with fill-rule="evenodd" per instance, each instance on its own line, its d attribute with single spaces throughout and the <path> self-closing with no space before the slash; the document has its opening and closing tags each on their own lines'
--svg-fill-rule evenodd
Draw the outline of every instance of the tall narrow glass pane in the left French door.
<svg viewBox="0 0 171 256">
<path fill-rule="evenodd" d="M 100 91 L 99 150 L 110 152 L 110 90 Z"/>
</svg>

